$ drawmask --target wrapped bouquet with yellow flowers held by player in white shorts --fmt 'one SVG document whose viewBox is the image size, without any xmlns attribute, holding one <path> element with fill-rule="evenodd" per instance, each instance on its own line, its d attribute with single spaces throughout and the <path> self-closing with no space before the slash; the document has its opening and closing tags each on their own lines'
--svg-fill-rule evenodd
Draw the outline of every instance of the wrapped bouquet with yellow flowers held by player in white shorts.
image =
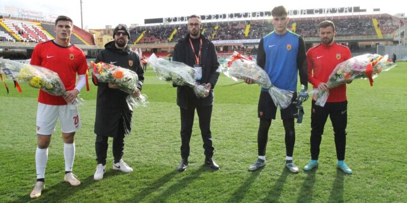
<svg viewBox="0 0 407 203">
<path fill-rule="evenodd" d="M 19 63 L 11 60 L 0 59 L 3 73 L 14 81 L 19 92 L 18 82 L 28 82 L 28 85 L 43 90 L 55 96 L 65 96 L 64 83 L 57 73 L 45 67 Z M 7 88 L 7 87 L 6 87 Z M 83 99 L 77 97 L 74 103 L 68 104 L 70 109 L 76 109 Z"/>
</svg>

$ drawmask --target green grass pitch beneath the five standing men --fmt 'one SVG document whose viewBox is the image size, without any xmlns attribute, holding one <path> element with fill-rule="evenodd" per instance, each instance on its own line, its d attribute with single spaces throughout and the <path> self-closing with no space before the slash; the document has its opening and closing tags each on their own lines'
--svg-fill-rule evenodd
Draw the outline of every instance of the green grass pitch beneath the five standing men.
<svg viewBox="0 0 407 203">
<path fill-rule="evenodd" d="M 11 86 L 11 84 L 9 85 Z M 407 63 L 399 62 L 374 79 L 347 86 L 348 124 L 345 161 L 353 175 L 336 169 L 332 125 L 327 122 L 319 167 L 292 174 L 284 168 L 284 129 L 272 122 L 267 165 L 256 172 L 247 168 L 257 159 L 257 85 L 235 83 L 221 74 L 215 87 L 211 130 L 214 159 L 220 170 L 203 164 L 202 140 L 195 116 L 190 165 L 177 173 L 180 157 L 180 110 L 176 88 L 159 81 L 151 69 L 143 93 L 147 108 L 133 115 L 133 131 L 125 139 L 123 159 L 133 167 L 124 174 L 112 171 L 109 140 L 106 174 L 94 181 L 96 168 L 96 87 L 82 91 L 79 112 L 82 128 L 75 136 L 73 171 L 81 181 L 71 187 L 63 181 L 64 155 L 57 125 L 49 147 L 46 190 L 39 199 L 29 194 L 36 181 L 35 149 L 38 90 L 22 84 L 23 93 L 0 87 L 0 202 L 405 202 L 407 201 Z M 310 159 L 310 104 L 296 126 L 294 162 L 302 168 Z M 277 113 L 279 118 L 279 113 Z"/>
</svg>

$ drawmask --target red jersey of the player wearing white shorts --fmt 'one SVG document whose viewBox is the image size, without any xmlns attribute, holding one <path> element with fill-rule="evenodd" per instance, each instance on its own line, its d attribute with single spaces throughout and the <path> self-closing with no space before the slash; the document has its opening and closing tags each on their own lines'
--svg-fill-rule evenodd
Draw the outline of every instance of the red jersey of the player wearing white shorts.
<svg viewBox="0 0 407 203">
<path fill-rule="evenodd" d="M 76 73 L 86 74 L 88 64 L 83 51 L 74 45 L 62 47 L 54 41 L 37 44 L 31 56 L 32 65 L 39 65 L 57 73 L 65 85 L 66 90 L 75 88 Z M 42 90 L 38 95 L 38 102 L 46 105 L 67 105 L 62 96 L 50 95 Z"/>
</svg>

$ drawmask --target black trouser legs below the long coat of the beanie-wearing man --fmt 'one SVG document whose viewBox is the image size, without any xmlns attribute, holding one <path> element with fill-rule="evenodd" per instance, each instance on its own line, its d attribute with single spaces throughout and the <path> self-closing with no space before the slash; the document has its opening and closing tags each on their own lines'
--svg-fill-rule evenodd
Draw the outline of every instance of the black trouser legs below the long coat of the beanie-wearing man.
<svg viewBox="0 0 407 203">
<path fill-rule="evenodd" d="M 109 137 L 96 135 L 95 150 L 96 150 L 96 161 L 98 164 L 101 163 L 106 165 L 107 147 Z M 113 157 L 114 162 L 119 162 L 124 154 L 124 134 L 118 135 L 113 138 Z"/>
</svg>

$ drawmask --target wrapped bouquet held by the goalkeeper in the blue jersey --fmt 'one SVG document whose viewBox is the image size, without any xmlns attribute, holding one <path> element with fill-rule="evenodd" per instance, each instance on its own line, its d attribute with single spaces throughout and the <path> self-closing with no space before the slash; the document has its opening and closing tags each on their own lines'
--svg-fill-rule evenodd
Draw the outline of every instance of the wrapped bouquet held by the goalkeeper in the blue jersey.
<svg viewBox="0 0 407 203">
<path fill-rule="evenodd" d="M 260 66 L 236 51 L 221 64 L 220 72 L 235 81 L 250 78 L 254 83 L 268 89 L 274 104 L 276 107 L 280 106 L 280 109 L 285 109 L 292 103 L 294 92 L 274 86 L 267 73 Z"/>
</svg>

